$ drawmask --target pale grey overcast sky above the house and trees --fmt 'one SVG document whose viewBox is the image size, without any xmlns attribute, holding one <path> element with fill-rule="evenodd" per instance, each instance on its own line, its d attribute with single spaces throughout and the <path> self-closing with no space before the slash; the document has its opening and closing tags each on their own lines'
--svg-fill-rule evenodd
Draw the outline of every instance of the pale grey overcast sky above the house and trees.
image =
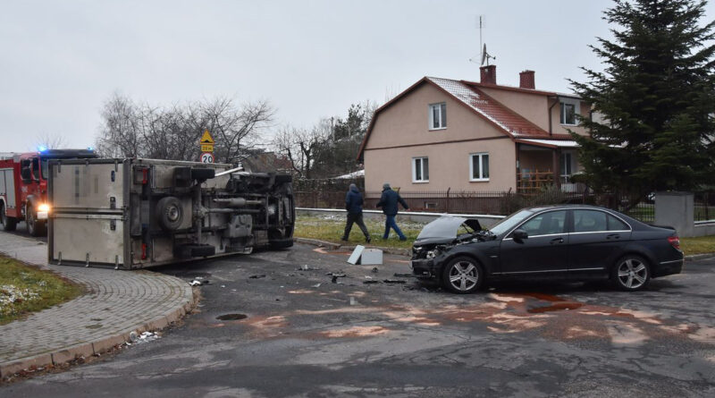
<svg viewBox="0 0 715 398">
<path fill-rule="evenodd" d="M 153 105 L 266 99 L 308 127 L 423 76 L 479 80 L 478 15 L 497 81 L 568 91 L 610 1 L 0 0 L 0 152 L 41 134 L 92 146 L 114 91 Z M 709 17 L 713 5 L 708 5 Z"/>
</svg>

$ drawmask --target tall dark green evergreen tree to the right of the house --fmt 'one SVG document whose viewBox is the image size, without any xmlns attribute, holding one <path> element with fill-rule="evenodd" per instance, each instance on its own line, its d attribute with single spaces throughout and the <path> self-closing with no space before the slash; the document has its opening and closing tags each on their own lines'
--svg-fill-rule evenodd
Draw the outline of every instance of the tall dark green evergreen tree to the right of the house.
<svg viewBox="0 0 715 398">
<path fill-rule="evenodd" d="M 612 41 L 593 52 L 605 68 L 582 68 L 571 83 L 600 117 L 581 118 L 591 138 L 572 132 L 585 182 L 635 206 L 652 191 L 692 190 L 712 182 L 715 79 L 712 28 L 699 21 L 705 1 L 615 0 L 603 19 Z"/>
</svg>

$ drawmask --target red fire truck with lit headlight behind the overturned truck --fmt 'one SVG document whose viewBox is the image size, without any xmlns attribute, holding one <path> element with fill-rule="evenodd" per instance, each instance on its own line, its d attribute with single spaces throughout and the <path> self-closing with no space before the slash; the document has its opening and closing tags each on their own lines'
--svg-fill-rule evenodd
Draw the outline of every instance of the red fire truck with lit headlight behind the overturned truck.
<svg viewBox="0 0 715 398">
<path fill-rule="evenodd" d="M 14 231 L 25 221 L 32 236 L 46 233 L 52 209 L 47 202 L 50 159 L 97 157 L 91 149 L 42 149 L 38 152 L 0 154 L 0 223 Z"/>
</svg>

